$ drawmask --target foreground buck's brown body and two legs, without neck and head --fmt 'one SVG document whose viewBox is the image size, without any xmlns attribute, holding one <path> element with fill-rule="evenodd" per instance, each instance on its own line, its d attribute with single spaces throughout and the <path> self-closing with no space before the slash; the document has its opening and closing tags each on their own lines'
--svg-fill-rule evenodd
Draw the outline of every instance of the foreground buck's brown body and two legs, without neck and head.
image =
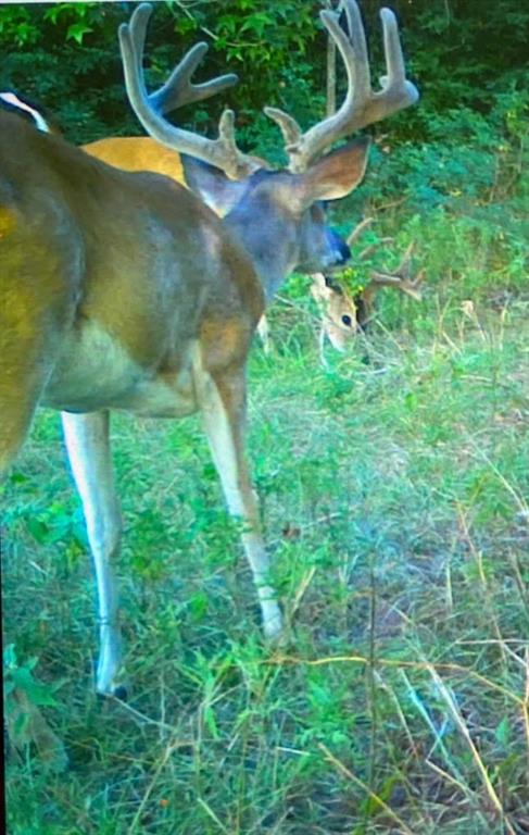
<svg viewBox="0 0 529 835">
<path fill-rule="evenodd" d="M 265 633 L 277 635 L 242 448 L 245 361 L 264 304 L 249 257 L 190 191 L 117 171 L 4 111 L 0 160 L 0 470 L 38 404 L 63 412 L 98 582 L 98 690 L 121 693 L 111 409 L 202 411 L 229 510 L 244 521 Z"/>
</svg>

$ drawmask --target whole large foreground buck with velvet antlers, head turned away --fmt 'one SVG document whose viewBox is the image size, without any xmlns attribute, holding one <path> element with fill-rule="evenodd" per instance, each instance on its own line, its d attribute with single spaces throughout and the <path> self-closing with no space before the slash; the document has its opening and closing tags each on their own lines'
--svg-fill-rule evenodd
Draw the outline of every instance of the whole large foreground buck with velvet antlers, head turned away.
<svg viewBox="0 0 529 835">
<path fill-rule="evenodd" d="M 295 141 L 290 136 L 292 172 L 259 170 L 244 182 L 231 182 L 216 167 L 226 167 L 228 157 L 247 164 L 240 151 L 227 149 L 222 139 L 176 128 L 161 115 L 182 97 L 203 98 L 232 78 L 207 82 L 198 94 L 189 83 L 187 55 L 167 84 L 148 96 L 141 54 L 151 8 L 138 7 L 130 23 L 121 26 L 133 108 L 152 136 L 202 160 L 201 175 L 216 194 L 232 196 L 224 221 L 167 177 L 118 171 L 16 115 L 0 113 L 0 464 L 14 458 L 39 403 L 63 412 L 96 566 L 97 688 L 102 694 L 119 693 L 122 663 L 111 570 L 121 522 L 110 410 L 159 418 L 202 412 L 228 508 L 244 523 L 241 538 L 264 632 L 275 637 L 281 631 L 243 453 L 252 334 L 264 297 L 270 298 L 291 270 L 322 271 L 348 256 L 317 201 L 354 188 L 364 173 L 368 141 L 355 140 L 322 157 L 324 150 L 417 96 L 405 80 L 389 10 L 382 10 L 388 80 L 379 92 L 371 91 L 353 0 L 347 0 L 347 9 L 354 24 L 351 40 L 336 14 L 322 13 L 347 59 L 344 104 L 336 117 L 300 133 Z M 290 117 L 278 114 L 274 117 L 291 125 Z M 222 122 L 228 134 L 230 119 L 225 114 Z M 256 227 L 260 221 L 262 228 Z"/>
</svg>

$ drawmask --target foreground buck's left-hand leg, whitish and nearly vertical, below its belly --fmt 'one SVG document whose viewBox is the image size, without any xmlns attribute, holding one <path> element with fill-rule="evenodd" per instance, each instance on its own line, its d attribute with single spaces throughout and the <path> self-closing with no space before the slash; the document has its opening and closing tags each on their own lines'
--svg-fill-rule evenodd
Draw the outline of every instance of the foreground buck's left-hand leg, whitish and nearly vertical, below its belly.
<svg viewBox="0 0 529 835">
<path fill-rule="evenodd" d="M 62 422 L 98 584 L 100 653 L 96 686 L 102 695 L 123 697 L 124 688 L 117 684 L 122 652 L 112 571 L 119 551 L 122 520 L 110 454 L 109 412 L 63 412 Z"/>
</svg>

